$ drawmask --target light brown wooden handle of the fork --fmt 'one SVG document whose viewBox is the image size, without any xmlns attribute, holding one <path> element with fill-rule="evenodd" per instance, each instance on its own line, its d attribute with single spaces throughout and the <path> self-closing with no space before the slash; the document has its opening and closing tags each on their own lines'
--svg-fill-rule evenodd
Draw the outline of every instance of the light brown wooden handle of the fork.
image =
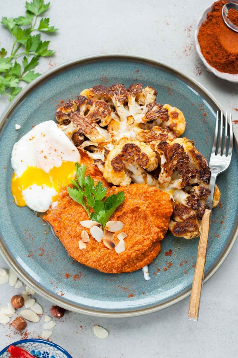
<svg viewBox="0 0 238 358">
<path fill-rule="evenodd" d="M 190 302 L 189 302 L 188 319 L 192 319 L 194 321 L 198 320 L 200 296 L 201 296 L 202 285 L 203 285 L 203 275 L 204 275 L 204 267 L 206 261 L 206 253 L 207 253 L 207 240 L 208 240 L 208 232 L 209 232 L 210 214 L 211 211 L 209 209 L 205 209 L 202 219 L 201 235 L 198 244 L 197 263 L 193 276 L 193 285 L 192 285 L 192 291 L 191 291 Z"/>
</svg>

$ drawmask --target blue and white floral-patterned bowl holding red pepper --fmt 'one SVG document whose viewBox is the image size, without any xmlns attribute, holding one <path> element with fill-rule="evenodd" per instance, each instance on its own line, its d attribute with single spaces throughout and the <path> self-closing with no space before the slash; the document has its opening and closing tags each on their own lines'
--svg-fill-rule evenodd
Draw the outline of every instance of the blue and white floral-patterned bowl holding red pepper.
<svg viewBox="0 0 238 358">
<path fill-rule="evenodd" d="M 9 352 L 7 352 L 9 345 L 1 350 L 0 358 L 10 357 Z M 17 347 L 25 349 L 36 358 L 72 358 L 72 356 L 58 344 L 49 342 L 45 339 L 23 339 L 14 342 L 11 345 L 16 345 Z"/>
</svg>

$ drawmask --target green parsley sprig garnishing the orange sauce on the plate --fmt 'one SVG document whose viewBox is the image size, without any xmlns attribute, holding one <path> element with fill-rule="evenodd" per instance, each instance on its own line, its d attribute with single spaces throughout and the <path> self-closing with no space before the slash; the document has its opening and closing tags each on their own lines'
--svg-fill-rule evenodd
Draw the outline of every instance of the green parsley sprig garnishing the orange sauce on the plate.
<svg viewBox="0 0 238 358">
<path fill-rule="evenodd" d="M 116 208 L 123 203 L 125 195 L 123 192 L 106 196 L 107 188 L 103 183 L 96 185 L 90 175 L 85 176 L 86 165 L 75 163 L 76 179 L 72 180 L 73 188 L 67 187 L 70 198 L 82 205 L 91 220 L 100 223 L 104 229 L 106 222 L 114 213 Z M 90 214 L 90 208 L 94 212 Z"/>
</svg>

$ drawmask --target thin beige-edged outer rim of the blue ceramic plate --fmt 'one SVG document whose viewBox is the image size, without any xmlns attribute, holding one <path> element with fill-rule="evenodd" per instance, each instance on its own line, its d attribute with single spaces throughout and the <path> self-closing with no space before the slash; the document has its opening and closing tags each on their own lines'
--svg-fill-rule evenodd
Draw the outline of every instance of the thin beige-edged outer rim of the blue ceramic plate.
<svg viewBox="0 0 238 358">
<path fill-rule="evenodd" d="M 158 61 L 156 59 L 145 57 L 145 56 L 140 56 L 140 55 L 123 54 L 123 53 L 96 54 L 96 55 L 90 55 L 90 56 L 81 57 L 81 58 L 77 58 L 77 59 L 74 59 L 71 61 L 64 62 L 63 64 L 60 64 L 60 65 L 52 68 L 51 70 L 41 74 L 41 76 L 39 76 L 33 82 L 31 82 L 26 87 L 24 87 L 22 89 L 22 91 L 18 94 L 18 96 L 16 96 L 14 98 L 14 100 L 9 104 L 9 106 L 6 108 L 6 110 L 1 115 L 1 117 L 0 117 L 0 133 L 1 133 L 1 130 L 4 126 L 4 124 L 8 121 L 8 117 L 9 117 L 10 113 L 14 111 L 15 106 L 20 102 L 21 98 L 26 96 L 28 94 L 28 92 L 30 92 L 31 89 L 34 88 L 37 84 L 39 84 L 41 81 L 44 81 L 46 78 L 50 77 L 52 74 L 57 73 L 61 70 L 64 70 L 68 67 L 78 65 L 78 64 L 80 65 L 80 63 L 91 62 L 93 60 L 100 61 L 100 59 L 103 61 L 105 61 L 106 59 L 108 59 L 108 60 L 110 60 L 110 59 L 111 60 L 112 59 L 134 60 L 134 61 L 141 61 L 143 63 L 154 64 L 155 66 L 163 67 L 163 68 L 167 69 L 168 71 L 171 71 L 171 72 L 179 75 L 180 77 L 183 77 L 185 80 L 189 81 L 193 85 L 197 86 L 199 88 L 199 90 L 201 92 L 205 93 L 205 95 L 207 97 L 209 97 L 209 99 L 215 104 L 215 106 L 217 106 L 219 108 L 219 110 L 222 111 L 222 107 L 220 106 L 219 102 L 213 97 L 213 95 L 202 84 L 200 84 L 197 80 L 193 79 L 192 77 L 185 74 L 184 72 L 180 71 L 179 69 L 175 68 L 174 66 L 170 66 L 162 61 Z M 234 146 L 235 146 L 236 152 L 238 152 L 238 143 L 237 143 L 237 139 L 235 138 L 235 136 L 234 136 Z M 238 219 L 238 214 L 237 214 L 237 219 Z M 215 272 L 219 269 L 219 267 L 222 265 L 222 263 L 225 261 L 225 259 L 229 255 L 230 251 L 232 250 L 234 243 L 238 236 L 238 222 L 237 221 L 238 220 L 236 220 L 236 227 L 234 229 L 232 238 L 231 238 L 226 250 L 224 251 L 223 255 L 220 257 L 220 259 L 218 260 L 216 265 L 213 267 L 213 269 L 210 270 L 207 273 L 207 275 L 204 277 L 204 283 L 207 282 L 215 274 Z M 100 311 L 100 310 L 87 309 L 87 308 L 80 307 L 74 303 L 65 303 L 64 301 L 61 301 L 61 296 L 55 297 L 55 296 L 49 294 L 49 292 L 47 292 L 45 289 L 43 289 L 43 287 L 38 286 L 37 282 L 33 281 L 31 279 L 31 277 L 28 277 L 27 274 L 25 274 L 24 271 L 21 270 L 21 268 L 18 266 L 18 264 L 16 262 L 14 262 L 14 260 L 11 258 L 8 251 L 6 250 L 1 237 L 0 237 L 0 253 L 3 256 L 4 260 L 10 266 L 10 268 L 18 275 L 19 279 L 22 280 L 25 284 L 27 284 L 30 288 L 32 288 L 37 294 L 44 297 L 45 299 L 52 302 L 53 304 L 59 305 L 59 306 L 65 308 L 66 310 L 73 311 L 76 313 L 85 314 L 85 315 L 102 317 L 102 318 L 127 318 L 127 317 L 135 317 L 135 316 L 150 314 L 150 313 L 162 310 L 164 308 L 168 308 L 169 306 L 172 306 L 172 305 L 182 301 L 184 298 L 188 297 L 191 293 L 191 289 L 189 289 L 186 292 L 184 292 L 183 294 L 179 295 L 178 297 L 175 297 L 165 303 L 157 304 L 155 306 L 148 307 L 148 308 L 138 309 L 135 311 L 119 311 L 119 312 L 117 312 L 117 311 Z"/>
</svg>

